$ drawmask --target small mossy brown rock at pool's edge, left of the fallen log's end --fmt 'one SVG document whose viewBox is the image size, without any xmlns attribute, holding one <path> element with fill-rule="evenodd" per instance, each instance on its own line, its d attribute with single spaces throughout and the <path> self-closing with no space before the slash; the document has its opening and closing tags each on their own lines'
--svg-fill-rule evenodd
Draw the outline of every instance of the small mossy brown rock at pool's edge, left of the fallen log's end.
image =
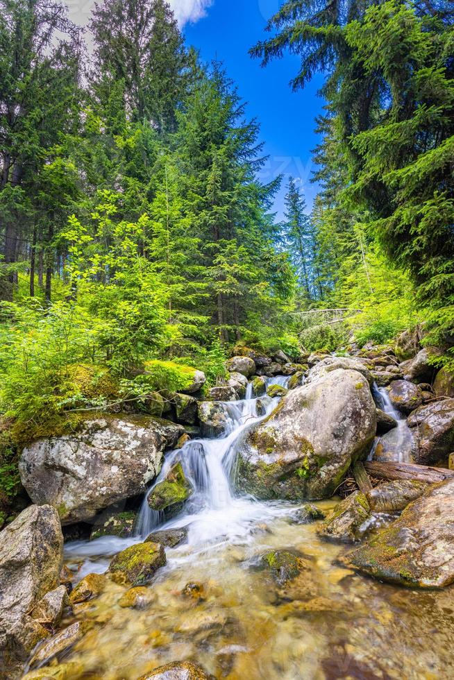
<svg viewBox="0 0 454 680">
<path fill-rule="evenodd" d="M 354 543 L 360 538 L 360 527 L 369 518 L 369 502 L 361 491 L 355 491 L 336 505 L 317 534 L 330 541 Z"/>
</svg>

